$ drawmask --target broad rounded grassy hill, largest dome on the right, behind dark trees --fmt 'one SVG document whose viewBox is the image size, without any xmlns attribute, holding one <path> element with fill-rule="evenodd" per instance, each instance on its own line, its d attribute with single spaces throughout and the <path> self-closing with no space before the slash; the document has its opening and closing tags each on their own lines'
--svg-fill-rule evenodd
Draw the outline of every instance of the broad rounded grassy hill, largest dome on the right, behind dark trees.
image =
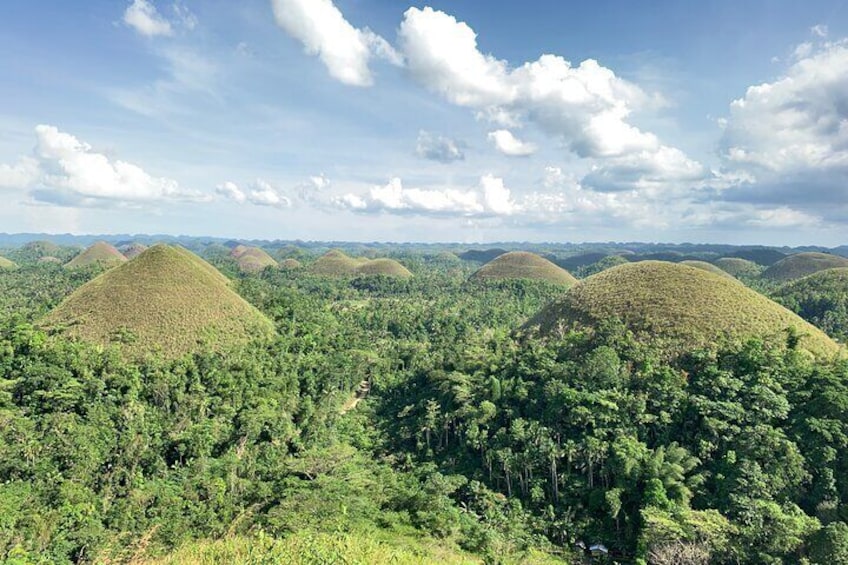
<svg viewBox="0 0 848 565">
<path fill-rule="evenodd" d="M 545 307 L 525 329 L 542 335 L 620 319 L 670 355 L 724 340 L 778 336 L 794 327 L 800 346 L 818 356 L 839 347 L 821 330 L 736 281 L 660 261 L 620 265 L 583 280 Z"/>
</svg>

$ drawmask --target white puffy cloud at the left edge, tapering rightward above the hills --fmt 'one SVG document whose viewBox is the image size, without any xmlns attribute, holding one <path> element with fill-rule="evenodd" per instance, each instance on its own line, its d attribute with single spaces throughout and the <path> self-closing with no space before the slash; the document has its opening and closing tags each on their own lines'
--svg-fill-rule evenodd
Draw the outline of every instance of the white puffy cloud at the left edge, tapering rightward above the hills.
<svg viewBox="0 0 848 565">
<path fill-rule="evenodd" d="M 138 165 L 112 159 L 49 125 L 35 128 L 31 157 L 0 165 L 0 186 L 28 189 L 30 196 L 60 205 L 114 205 L 163 200 L 202 200 L 173 179 L 153 176 Z"/>
</svg>

